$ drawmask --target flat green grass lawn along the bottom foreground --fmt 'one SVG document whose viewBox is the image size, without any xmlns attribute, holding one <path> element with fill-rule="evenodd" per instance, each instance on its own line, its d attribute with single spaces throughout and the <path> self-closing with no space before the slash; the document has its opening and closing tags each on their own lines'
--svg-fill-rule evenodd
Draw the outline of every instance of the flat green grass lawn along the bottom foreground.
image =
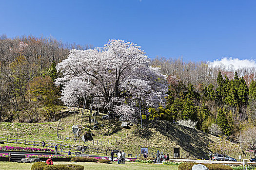
<svg viewBox="0 0 256 170">
<path fill-rule="evenodd" d="M 125 165 L 118 165 L 116 162 L 113 164 L 101 164 L 101 163 L 70 163 L 70 162 L 54 162 L 57 164 L 77 164 L 85 167 L 85 170 L 177 170 L 178 166 L 171 165 L 157 165 L 127 162 Z M 22 164 L 17 162 L 0 162 L 0 170 L 30 170 L 33 164 Z"/>
</svg>

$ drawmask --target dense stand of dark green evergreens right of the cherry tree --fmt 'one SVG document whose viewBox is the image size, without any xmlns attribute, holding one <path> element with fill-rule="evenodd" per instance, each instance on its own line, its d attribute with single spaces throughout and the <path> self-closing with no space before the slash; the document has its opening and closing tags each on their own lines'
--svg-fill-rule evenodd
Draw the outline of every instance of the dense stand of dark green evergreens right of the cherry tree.
<svg viewBox="0 0 256 170">
<path fill-rule="evenodd" d="M 159 109 L 156 117 L 192 120 L 197 122 L 197 129 L 226 136 L 236 135 L 244 123 L 255 123 L 256 82 L 251 81 L 248 88 L 236 71 L 233 79 L 219 71 L 216 82 L 214 86 L 171 81 L 166 107 Z"/>
</svg>

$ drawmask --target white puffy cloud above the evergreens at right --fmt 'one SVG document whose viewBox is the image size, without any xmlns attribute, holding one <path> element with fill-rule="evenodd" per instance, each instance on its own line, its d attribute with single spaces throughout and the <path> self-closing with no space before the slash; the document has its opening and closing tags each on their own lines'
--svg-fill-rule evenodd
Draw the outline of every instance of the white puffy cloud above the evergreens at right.
<svg viewBox="0 0 256 170">
<path fill-rule="evenodd" d="M 238 58 L 232 57 L 225 57 L 221 60 L 215 60 L 213 62 L 209 62 L 210 66 L 217 67 L 217 66 L 224 66 L 226 69 L 233 69 L 237 70 L 238 68 L 256 68 L 256 60 L 240 60 Z"/>
</svg>

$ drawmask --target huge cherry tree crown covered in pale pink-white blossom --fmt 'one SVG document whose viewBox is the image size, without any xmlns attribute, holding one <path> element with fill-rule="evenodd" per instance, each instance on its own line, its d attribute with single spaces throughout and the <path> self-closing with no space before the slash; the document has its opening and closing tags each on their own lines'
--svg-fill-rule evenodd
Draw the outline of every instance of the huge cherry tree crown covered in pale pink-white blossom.
<svg viewBox="0 0 256 170">
<path fill-rule="evenodd" d="M 123 119 L 136 119 L 139 103 L 157 107 L 164 102 L 166 76 L 149 66 L 149 58 L 137 44 L 110 40 L 104 47 L 71 50 L 57 65 L 62 74 L 62 101 L 68 106 L 90 96 L 105 103 L 104 108 Z"/>
</svg>

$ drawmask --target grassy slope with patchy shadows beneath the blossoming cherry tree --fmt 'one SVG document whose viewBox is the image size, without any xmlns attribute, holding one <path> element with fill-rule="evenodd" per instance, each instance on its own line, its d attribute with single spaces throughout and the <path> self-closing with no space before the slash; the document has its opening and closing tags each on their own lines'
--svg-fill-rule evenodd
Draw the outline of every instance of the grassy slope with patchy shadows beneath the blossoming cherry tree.
<svg viewBox="0 0 256 170">
<path fill-rule="evenodd" d="M 86 112 L 83 126 L 88 125 L 88 110 Z M 134 124 L 131 129 L 121 128 L 118 120 L 101 120 L 102 116 L 96 116 L 99 124 L 104 126 L 97 130 L 92 130 L 93 141 L 87 141 L 86 145 L 102 149 L 121 149 L 126 153 L 138 155 L 140 147 L 149 147 L 150 155 L 157 150 L 169 153 L 172 157 L 173 147 L 180 147 L 180 154 L 185 156 L 186 152 L 197 158 L 207 157 L 207 145 L 216 140 L 217 137 L 205 134 L 195 129 L 178 126 L 165 120 L 144 121 L 143 129 L 140 124 Z M 75 117 L 76 119 L 76 117 Z M 80 124 L 81 115 L 78 116 L 76 124 Z M 59 142 L 63 144 L 81 145 L 79 142 L 63 141 L 56 136 L 57 122 L 51 123 L 0 123 L 0 136 L 9 138 L 22 138 L 30 140 L 46 140 L 46 142 Z M 59 134 L 73 138 L 71 127 L 73 125 L 73 115 L 62 118 L 59 123 Z M 128 134 L 128 136 L 127 136 Z M 127 137 L 126 137 L 127 136 Z M 117 142 L 116 142 L 117 138 Z M 121 138 L 123 140 L 121 140 Z M 98 145 L 97 145 L 98 140 Z M 108 140 L 110 144 L 108 144 Z M 102 141 L 102 145 L 100 145 Z M 17 146 L 18 144 L 6 144 Z"/>
</svg>

